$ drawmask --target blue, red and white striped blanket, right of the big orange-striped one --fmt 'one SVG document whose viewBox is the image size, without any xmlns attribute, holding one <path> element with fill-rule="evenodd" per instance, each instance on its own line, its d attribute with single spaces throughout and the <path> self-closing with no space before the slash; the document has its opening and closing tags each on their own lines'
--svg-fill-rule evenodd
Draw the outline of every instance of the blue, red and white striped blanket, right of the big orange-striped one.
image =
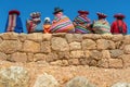
<svg viewBox="0 0 130 87">
<path fill-rule="evenodd" d="M 88 28 L 87 25 L 90 24 L 90 20 L 88 17 L 83 17 L 83 16 L 77 16 L 74 20 L 74 25 L 76 28 L 76 33 L 80 33 L 80 34 L 88 34 L 91 33 Z"/>
</svg>

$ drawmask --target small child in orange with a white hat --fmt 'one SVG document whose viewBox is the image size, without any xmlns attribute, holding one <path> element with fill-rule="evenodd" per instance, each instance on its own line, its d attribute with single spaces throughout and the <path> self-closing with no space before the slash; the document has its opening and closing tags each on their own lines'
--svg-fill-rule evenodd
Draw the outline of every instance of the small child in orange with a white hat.
<svg viewBox="0 0 130 87">
<path fill-rule="evenodd" d="M 43 29 L 46 34 L 50 33 L 50 28 L 51 28 L 51 22 L 50 22 L 50 17 L 46 17 L 44 18 L 44 23 L 43 23 Z"/>
</svg>

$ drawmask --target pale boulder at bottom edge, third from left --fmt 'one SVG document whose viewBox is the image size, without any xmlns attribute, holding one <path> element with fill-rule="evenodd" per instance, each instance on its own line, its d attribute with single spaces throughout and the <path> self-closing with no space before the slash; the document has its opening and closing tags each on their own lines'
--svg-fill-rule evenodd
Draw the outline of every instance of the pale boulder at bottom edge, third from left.
<svg viewBox="0 0 130 87">
<path fill-rule="evenodd" d="M 95 87 L 94 85 L 90 84 L 86 77 L 77 76 L 70 79 L 65 87 Z"/>
</svg>

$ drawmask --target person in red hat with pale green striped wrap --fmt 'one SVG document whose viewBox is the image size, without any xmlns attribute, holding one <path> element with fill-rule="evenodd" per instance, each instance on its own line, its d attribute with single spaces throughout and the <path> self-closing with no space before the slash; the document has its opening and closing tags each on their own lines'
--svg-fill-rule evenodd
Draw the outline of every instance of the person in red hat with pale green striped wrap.
<svg viewBox="0 0 130 87">
<path fill-rule="evenodd" d="M 93 30 L 95 34 L 110 34 L 109 23 L 106 21 L 107 15 L 104 13 L 96 13 L 99 20 L 93 23 Z"/>
</svg>

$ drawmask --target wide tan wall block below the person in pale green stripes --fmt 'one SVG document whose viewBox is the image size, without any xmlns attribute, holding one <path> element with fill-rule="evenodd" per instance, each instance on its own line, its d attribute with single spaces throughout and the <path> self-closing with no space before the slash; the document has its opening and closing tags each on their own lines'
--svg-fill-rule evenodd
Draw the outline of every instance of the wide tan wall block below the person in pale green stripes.
<svg viewBox="0 0 130 87">
<path fill-rule="evenodd" d="M 99 50 L 115 49 L 115 44 L 112 40 L 99 39 L 96 44 Z"/>
</svg>

